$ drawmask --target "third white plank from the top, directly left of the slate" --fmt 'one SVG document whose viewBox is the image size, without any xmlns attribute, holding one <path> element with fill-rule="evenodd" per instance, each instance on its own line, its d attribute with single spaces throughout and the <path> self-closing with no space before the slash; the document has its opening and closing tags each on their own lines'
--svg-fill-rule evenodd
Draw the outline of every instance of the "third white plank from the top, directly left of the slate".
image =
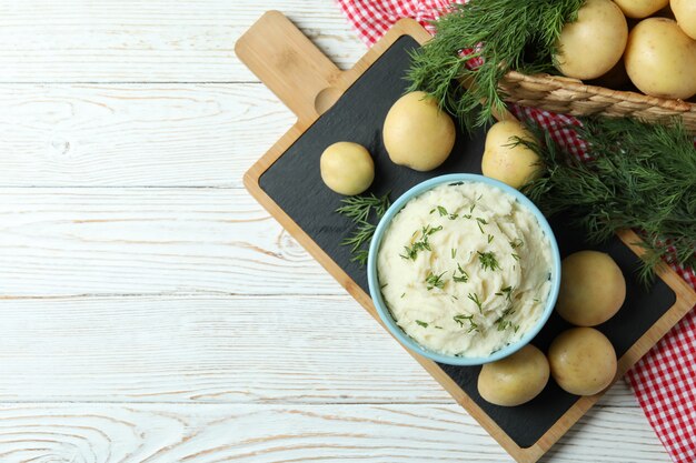
<svg viewBox="0 0 696 463">
<path fill-rule="evenodd" d="M 240 189 L 2 189 L 0 295 L 344 294 Z"/>
</svg>

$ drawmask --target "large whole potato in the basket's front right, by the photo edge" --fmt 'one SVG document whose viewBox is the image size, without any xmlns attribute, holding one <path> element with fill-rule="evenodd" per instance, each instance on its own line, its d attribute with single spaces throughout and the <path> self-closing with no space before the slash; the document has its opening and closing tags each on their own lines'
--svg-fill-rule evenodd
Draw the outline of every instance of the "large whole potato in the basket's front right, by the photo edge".
<svg viewBox="0 0 696 463">
<path fill-rule="evenodd" d="M 628 36 L 624 61 L 646 94 L 686 100 L 696 93 L 696 41 L 670 19 L 640 21 Z"/>
</svg>

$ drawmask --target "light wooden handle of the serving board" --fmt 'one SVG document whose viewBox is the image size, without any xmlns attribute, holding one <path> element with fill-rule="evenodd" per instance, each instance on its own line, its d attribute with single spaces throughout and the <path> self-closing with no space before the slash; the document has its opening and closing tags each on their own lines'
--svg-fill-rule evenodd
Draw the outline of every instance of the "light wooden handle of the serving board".
<svg viewBox="0 0 696 463">
<path fill-rule="evenodd" d="M 300 121 L 314 121 L 342 92 L 341 71 L 280 11 L 264 13 L 235 52 Z"/>
</svg>

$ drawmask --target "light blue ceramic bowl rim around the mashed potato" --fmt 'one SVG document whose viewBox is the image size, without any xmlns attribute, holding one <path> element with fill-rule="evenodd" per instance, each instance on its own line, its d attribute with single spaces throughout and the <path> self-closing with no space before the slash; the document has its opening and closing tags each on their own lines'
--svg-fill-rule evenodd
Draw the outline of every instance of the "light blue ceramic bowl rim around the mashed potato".
<svg viewBox="0 0 696 463">
<path fill-rule="evenodd" d="M 486 183 L 491 187 L 497 187 L 500 190 L 505 191 L 508 194 L 511 194 L 517 199 L 517 201 L 527 208 L 539 222 L 544 234 L 548 236 L 548 241 L 550 243 L 550 253 L 551 253 L 551 288 L 549 291 L 548 299 L 546 300 L 546 306 L 544 308 L 544 313 L 539 318 L 537 324 L 529 330 L 525 335 L 517 342 L 513 344 L 508 344 L 499 351 L 494 352 L 489 356 L 486 358 L 464 358 L 456 355 L 444 355 L 437 352 L 429 351 L 422 345 L 418 344 L 412 338 L 406 334 L 401 328 L 396 323 L 394 318 L 391 316 L 391 312 L 387 309 L 385 301 L 381 295 L 381 291 L 379 289 L 379 281 L 377 279 L 377 253 L 379 252 L 379 248 L 381 245 L 381 240 L 385 234 L 387 228 L 391 223 L 394 217 L 406 205 L 408 201 L 412 198 L 418 197 L 419 194 L 434 189 L 435 187 L 439 187 L 445 183 L 455 183 L 455 182 L 476 182 L 476 183 Z M 546 321 L 554 311 L 554 305 L 556 305 L 556 300 L 558 299 L 558 289 L 560 286 L 560 254 L 558 253 L 558 243 L 556 242 L 556 236 L 554 236 L 554 232 L 551 231 L 550 225 L 546 221 L 541 211 L 537 209 L 536 205 L 527 197 L 525 197 L 519 191 L 515 190 L 511 187 L 506 185 L 503 182 L 499 182 L 494 179 L 489 179 L 488 177 L 478 175 L 474 173 L 454 173 L 449 175 L 436 177 L 434 179 L 427 180 L 422 183 L 417 184 L 416 187 L 408 190 L 406 193 L 401 194 L 399 199 L 395 201 L 394 204 L 387 210 L 385 215 L 381 218 L 379 224 L 377 225 L 377 230 L 375 230 L 375 234 L 372 236 L 372 241 L 370 243 L 369 256 L 367 261 L 367 280 L 370 289 L 370 296 L 372 298 L 372 302 L 375 303 L 375 308 L 377 309 L 377 313 L 381 318 L 381 321 L 387 325 L 391 334 L 399 340 L 401 344 L 411 351 L 434 360 L 439 363 L 447 363 L 450 365 L 480 365 L 484 363 L 495 362 L 496 360 L 500 360 L 506 358 L 524 345 L 529 343 L 537 335 L 537 333 L 541 330 Z"/>
</svg>

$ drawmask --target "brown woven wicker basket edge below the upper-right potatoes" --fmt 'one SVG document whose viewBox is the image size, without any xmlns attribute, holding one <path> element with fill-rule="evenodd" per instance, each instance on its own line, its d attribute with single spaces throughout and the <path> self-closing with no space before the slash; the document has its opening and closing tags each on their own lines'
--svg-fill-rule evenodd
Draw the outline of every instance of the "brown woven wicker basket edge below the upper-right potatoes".
<svg viewBox="0 0 696 463">
<path fill-rule="evenodd" d="M 647 97 L 630 91 L 588 85 L 576 79 L 557 76 L 507 73 L 500 88 L 507 100 L 525 107 L 573 115 L 630 115 L 645 121 L 680 115 L 686 129 L 696 135 L 696 103 Z"/>
</svg>

